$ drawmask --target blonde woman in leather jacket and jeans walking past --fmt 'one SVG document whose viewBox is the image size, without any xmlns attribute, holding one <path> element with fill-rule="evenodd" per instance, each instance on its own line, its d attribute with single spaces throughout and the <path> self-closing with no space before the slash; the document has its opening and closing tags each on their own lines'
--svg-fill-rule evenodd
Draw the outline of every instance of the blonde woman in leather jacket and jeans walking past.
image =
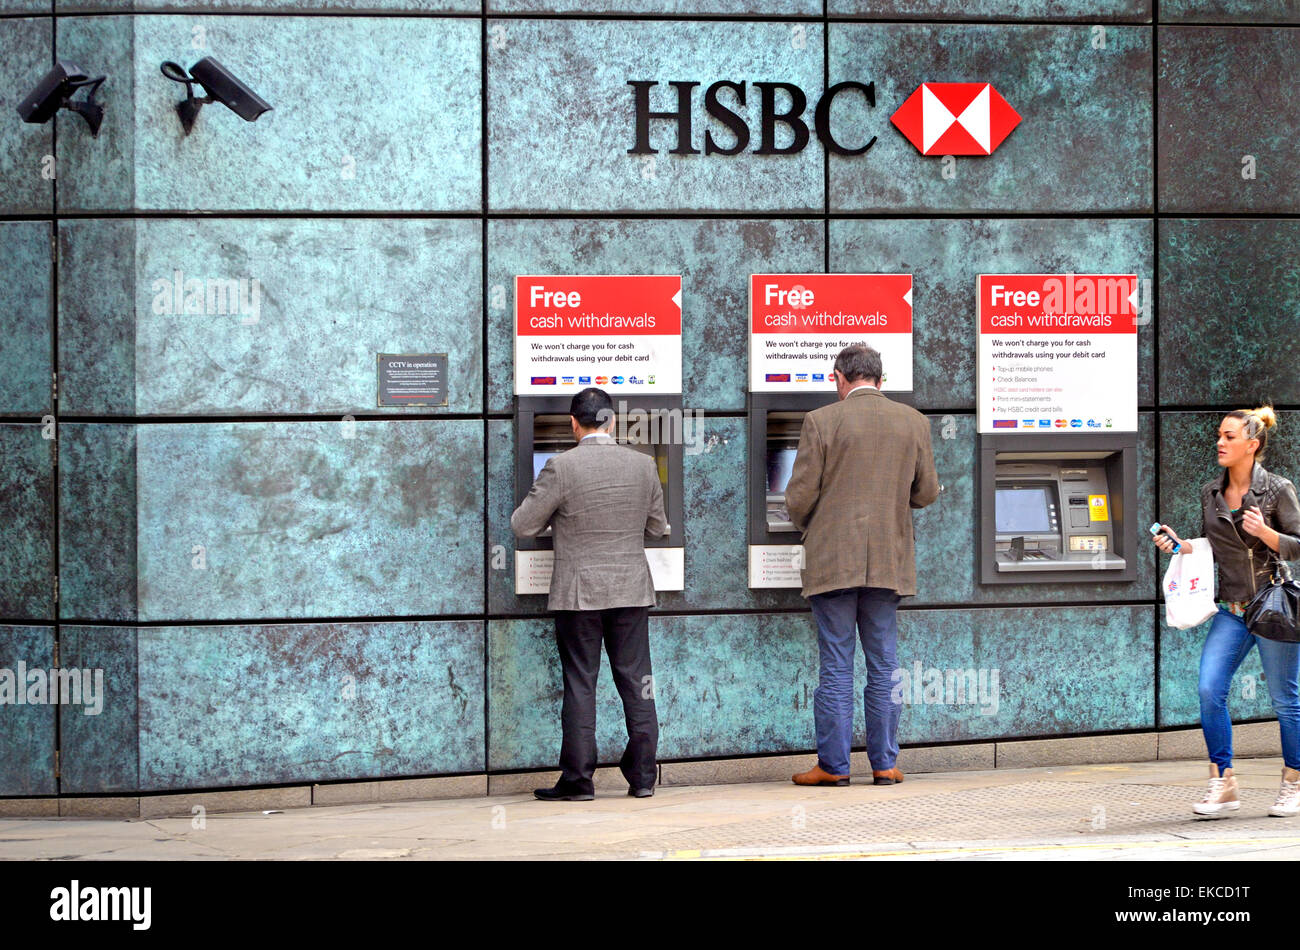
<svg viewBox="0 0 1300 950">
<path fill-rule="evenodd" d="M 1270 815 L 1300 814 L 1300 643 L 1253 635 L 1245 606 L 1269 582 L 1278 559 L 1300 558 L 1300 503 L 1295 486 L 1260 464 L 1269 430 L 1277 425 L 1271 407 L 1230 412 L 1218 430 L 1218 464 L 1223 474 L 1201 489 L 1201 534 L 1218 567 L 1218 613 L 1201 650 L 1201 730 L 1210 758 L 1205 797 L 1192 806 L 1197 815 L 1230 815 L 1240 807 L 1232 775 L 1232 720 L 1227 694 L 1232 674 L 1252 647 L 1258 647 L 1264 677 L 1282 733 L 1282 789 Z M 1154 537 L 1166 554 L 1190 554 L 1188 542 L 1167 525 Z M 1167 535 L 1167 537 L 1166 537 Z M 1196 543 L 1201 543 L 1197 541 Z"/>
</svg>

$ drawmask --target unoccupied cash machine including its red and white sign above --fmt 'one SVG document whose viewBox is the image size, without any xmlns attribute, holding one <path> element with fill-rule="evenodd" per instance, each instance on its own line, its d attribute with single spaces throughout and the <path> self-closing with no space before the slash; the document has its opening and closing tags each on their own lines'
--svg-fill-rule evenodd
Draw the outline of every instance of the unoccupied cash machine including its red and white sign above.
<svg viewBox="0 0 1300 950">
<path fill-rule="evenodd" d="M 976 294 L 980 584 L 1136 580 L 1138 277 L 980 274 Z"/>
</svg>

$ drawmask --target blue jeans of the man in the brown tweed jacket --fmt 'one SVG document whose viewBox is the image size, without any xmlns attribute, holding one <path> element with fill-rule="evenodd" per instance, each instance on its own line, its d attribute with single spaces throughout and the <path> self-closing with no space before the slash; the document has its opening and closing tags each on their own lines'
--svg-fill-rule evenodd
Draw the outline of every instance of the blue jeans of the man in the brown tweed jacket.
<svg viewBox="0 0 1300 950">
<path fill-rule="evenodd" d="M 831 775 L 849 775 L 853 745 L 853 642 L 862 638 L 867 658 L 867 758 L 883 772 L 898 758 L 898 717 L 902 706 L 890 700 L 898 668 L 898 600 L 884 587 L 828 590 L 809 598 L 816 619 L 820 672 L 812 693 L 818 765 Z M 857 637 L 854 635 L 857 634 Z"/>
</svg>

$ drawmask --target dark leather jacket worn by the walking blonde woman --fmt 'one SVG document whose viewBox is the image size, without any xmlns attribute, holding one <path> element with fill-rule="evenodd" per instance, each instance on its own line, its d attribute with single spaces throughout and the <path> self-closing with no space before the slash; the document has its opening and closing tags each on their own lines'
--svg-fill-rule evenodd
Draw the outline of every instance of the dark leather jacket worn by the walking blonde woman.
<svg viewBox="0 0 1300 950">
<path fill-rule="evenodd" d="M 1223 500 L 1226 487 L 1227 472 L 1223 472 L 1201 489 L 1201 530 L 1218 565 L 1218 599 L 1248 602 L 1269 582 L 1279 556 L 1283 560 L 1300 558 L 1300 502 L 1291 482 L 1254 463 L 1240 511 L 1258 506 L 1264 524 L 1278 533 L 1278 552 L 1274 554 L 1262 541 L 1240 529 L 1240 513 L 1236 521 L 1232 520 Z"/>
</svg>

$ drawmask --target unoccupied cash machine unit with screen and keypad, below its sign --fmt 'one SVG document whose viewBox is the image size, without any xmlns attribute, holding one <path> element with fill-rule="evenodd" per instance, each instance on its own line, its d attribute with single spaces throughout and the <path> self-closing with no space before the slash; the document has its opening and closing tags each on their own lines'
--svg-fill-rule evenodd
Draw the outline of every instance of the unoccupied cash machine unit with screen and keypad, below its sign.
<svg viewBox="0 0 1300 950">
<path fill-rule="evenodd" d="M 980 437 L 980 582 L 1138 577 L 1138 437 Z"/>
</svg>

